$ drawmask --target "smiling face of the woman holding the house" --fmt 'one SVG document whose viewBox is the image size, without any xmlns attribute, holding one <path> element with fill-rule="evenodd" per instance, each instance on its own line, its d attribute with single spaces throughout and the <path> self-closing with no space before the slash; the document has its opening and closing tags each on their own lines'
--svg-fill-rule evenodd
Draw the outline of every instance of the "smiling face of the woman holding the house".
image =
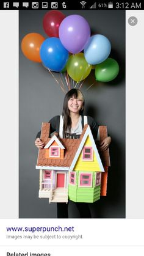
<svg viewBox="0 0 144 256">
<path fill-rule="evenodd" d="M 68 100 L 68 109 L 70 110 L 70 112 L 73 112 L 75 114 L 79 114 L 79 111 L 81 111 L 83 105 L 84 103 L 81 98 L 71 97 Z"/>
</svg>

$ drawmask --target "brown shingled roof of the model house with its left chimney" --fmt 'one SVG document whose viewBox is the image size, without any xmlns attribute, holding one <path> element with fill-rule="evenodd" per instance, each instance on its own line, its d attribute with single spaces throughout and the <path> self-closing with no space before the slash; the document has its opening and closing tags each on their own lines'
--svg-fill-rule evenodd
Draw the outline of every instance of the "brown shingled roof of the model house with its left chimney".
<svg viewBox="0 0 144 256">
<path fill-rule="evenodd" d="M 57 167 L 58 169 L 65 169 L 65 167 L 70 167 L 71 163 L 73 162 L 74 156 L 76 155 L 76 152 L 79 148 L 79 145 L 82 142 L 85 132 L 87 131 L 87 128 L 88 128 L 88 125 L 85 125 L 79 139 L 60 139 L 59 137 L 57 138 L 60 144 L 62 144 L 63 147 L 65 147 L 65 153 L 64 153 L 63 159 L 45 158 L 46 148 L 40 149 L 38 151 L 37 169 L 42 169 L 42 168 L 45 169 L 45 167 L 50 167 L 50 168 Z M 45 145 L 51 144 L 52 138 L 56 136 L 54 135 L 52 138 L 49 138 L 49 130 L 50 130 L 50 123 L 42 123 L 41 141 L 43 141 Z M 102 158 L 103 158 L 102 162 L 104 161 L 103 163 L 104 165 L 107 162 L 106 160 L 108 159 L 105 153 L 102 154 Z"/>
</svg>

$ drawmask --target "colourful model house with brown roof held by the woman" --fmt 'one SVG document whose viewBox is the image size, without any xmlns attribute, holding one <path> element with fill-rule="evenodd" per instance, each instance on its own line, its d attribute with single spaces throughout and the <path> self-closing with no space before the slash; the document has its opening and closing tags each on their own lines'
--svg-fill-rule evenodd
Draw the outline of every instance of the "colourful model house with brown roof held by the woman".
<svg viewBox="0 0 144 256">
<path fill-rule="evenodd" d="M 41 127 L 45 147 L 38 152 L 39 197 L 49 202 L 95 202 L 106 196 L 109 149 L 98 152 L 90 126 L 85 125 L 79 139 L 49 138 L 49 123 Z M 107 137 L 106 126 L 99 126 L 99 141 Z"/>
</svg>

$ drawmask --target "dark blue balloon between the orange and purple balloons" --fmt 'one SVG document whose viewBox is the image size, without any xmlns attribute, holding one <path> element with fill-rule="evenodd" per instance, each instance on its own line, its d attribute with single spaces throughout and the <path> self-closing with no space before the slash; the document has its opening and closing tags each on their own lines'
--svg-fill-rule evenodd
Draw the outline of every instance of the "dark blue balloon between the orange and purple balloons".
<svg viewBox="0 0 144 256">
<path fill-rule="evenodd" d="M 40 47 L 40 58 L 45 67 L 52 71 L 61 71 L 68 60 L 68 51 L 57 37 L 46 39 Z"/>
</svg>

